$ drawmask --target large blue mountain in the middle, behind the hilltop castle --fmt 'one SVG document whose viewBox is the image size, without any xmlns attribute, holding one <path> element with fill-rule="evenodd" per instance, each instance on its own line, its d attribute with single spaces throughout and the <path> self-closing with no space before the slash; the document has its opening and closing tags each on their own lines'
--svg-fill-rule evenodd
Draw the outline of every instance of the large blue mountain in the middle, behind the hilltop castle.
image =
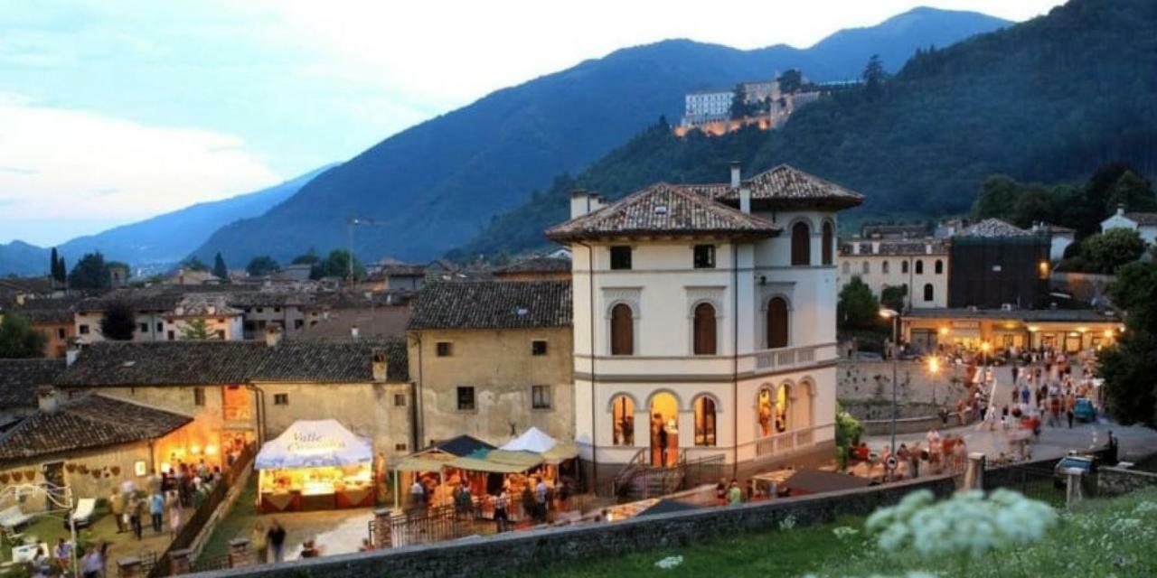
<svg viewBox="0 0 1157 578">
<path fill-rule="evenodd" d="M 271 253 L 285 260 L 310 247 L 344 247 L 346 222 L 359 217 L 375 221 L 354 232 L 363 259 L 429 259 L 470 239 L 555 175 L 580 171 L 659 116 L 678 118 L 688 90 L 771 79 L 790 67 L 812 80 L 856 77 L 872 53 L 896 54 L 886 62 L 894 69 L 918 47 L 1005 24 L 918 9 L 876 32 L 841 32 L 806 50 L 742 51 L 691 40 L 619 50 L 398 133 L 267 214 L 222 228 L 196 255 L 222 251 L 243 261 Z"/>
</svg>

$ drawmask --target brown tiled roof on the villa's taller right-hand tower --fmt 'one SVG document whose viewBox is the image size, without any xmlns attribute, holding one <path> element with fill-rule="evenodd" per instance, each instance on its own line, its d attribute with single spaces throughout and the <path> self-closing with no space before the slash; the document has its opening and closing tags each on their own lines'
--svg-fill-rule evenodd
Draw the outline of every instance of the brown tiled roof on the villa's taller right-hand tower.
<svg viewBox="0 0 1157 578">
<path fill-rule="evenodd" d="M 821 206 L 849 208 L 863 203 L 863 195 L 794 166 L 781 164 L 745 180 L 751 188 L 752 209 Z M 686 185 L 700 194 L 739 205 L 739 190 L 730 185 Z"/>
</svg>

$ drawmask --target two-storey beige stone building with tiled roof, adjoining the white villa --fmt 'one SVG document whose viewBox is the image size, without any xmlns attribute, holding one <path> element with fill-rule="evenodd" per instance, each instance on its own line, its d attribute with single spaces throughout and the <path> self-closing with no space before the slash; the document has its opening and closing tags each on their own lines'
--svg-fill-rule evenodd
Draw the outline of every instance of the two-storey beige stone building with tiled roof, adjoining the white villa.
<svg viewBox="0 0 1157 578">
<path fill-rule="evenodd" d="M 407 329 L 421 439 L 574 438 L 570 318 L 567 281 L 427 284 Z"/>
</svg>

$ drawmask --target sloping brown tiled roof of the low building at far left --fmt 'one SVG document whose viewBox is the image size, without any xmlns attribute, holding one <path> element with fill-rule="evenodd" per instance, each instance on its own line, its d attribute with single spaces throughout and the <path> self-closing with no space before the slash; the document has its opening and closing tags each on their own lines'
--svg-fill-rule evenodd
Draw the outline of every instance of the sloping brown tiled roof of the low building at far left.
<svg viewBox="0 0 1157 578">
<path fill-rule="evenodd" d="M 53 413 L 25 417 L 0 437 L 0 460 L 155 439 L 192 421 L 187 415 L 84 395 L 61 402 Z"/>
</svg>

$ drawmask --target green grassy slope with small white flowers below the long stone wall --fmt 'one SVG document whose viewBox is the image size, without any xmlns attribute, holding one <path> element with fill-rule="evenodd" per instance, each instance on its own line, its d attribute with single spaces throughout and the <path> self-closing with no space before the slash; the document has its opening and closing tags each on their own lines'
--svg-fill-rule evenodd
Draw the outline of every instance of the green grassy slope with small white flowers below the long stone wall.
<svg viewBox="0 0 1157 578">
<path fill-rule="evenodd" d="M 867 577 L 904 576 L 907 571 L 942 577 L 1003 576 L 1157 576 L 1157 489 L 1115 499 L 1095 499 L 1061 521 L 1045 540 L 993 553 L 981 560 L 923 560 L 914 551 L 883 553 L 863 529 L 863 518 L 847 518 L 823 526 L 721 536 L 683 548 L 640 551 L 589 563 L 537 568 L 514 576 L 594 578 L 620 576 L 664 577 Z M 840 527 L 857 531 L 835 531 Z M 668 556 L 683 562 L 664 570 L 655 565 Z"/>
</svg>

